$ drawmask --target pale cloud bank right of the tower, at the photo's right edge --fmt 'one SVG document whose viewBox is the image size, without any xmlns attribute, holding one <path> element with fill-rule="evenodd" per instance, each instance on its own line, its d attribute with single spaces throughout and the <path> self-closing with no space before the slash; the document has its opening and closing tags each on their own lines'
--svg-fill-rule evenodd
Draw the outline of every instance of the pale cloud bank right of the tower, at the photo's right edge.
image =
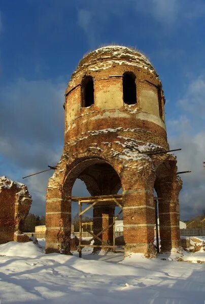
<svg viewBox="0 0 205 304">
<path fill-rule="evenodd" d="M 170 148 L 182 148 L 177 153 L 178 171 L 192 171 L 181 175 L 183 189 L 180 194 L 183 219 L 201 214 L 205 209 L 205 81 L 203 77 L 193 80 L 185 95 L 178 101 L 183 115 L 167 122 Z"/>
</svg>

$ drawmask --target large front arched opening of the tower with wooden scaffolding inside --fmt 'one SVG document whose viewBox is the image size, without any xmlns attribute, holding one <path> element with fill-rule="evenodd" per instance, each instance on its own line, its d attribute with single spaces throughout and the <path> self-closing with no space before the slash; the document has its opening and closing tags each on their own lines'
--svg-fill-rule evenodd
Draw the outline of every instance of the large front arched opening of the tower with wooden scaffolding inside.
<svg viewBox="0 0 205 304">
<path fill-rule="evenodd" d="M 115 195 L 120 191 L 120 189 L 121 181 L 117 172 L 103 159 L 87 159 L 79 162 L 73 170 L 70 171 L 69 175 L 67 175 L 63 184 L 63 192 L 65 193 L 65 196 L 86 196 L 88 199 L 93 199 L 93 196 Z M 91 205 L 92 202 L 86 202 L 86 204 L 82 204 L 81 210 L 84 211 Z M 71 217 L 70 221 L 72 222 L 72 228 L 77 229 L 77 231 L 73 232 L 75 232 L 74 234 L 77 238 L 79 238 L 80 235 L 84 238 L 82 239 L 83 244 L 84 241 L 89 244 L 89 240 L 92 238 L 92 234 L 89 238 L 88 231 L 95 235 L 98 235 L 103 231 L 99 234 L 99 238 L 103 240 L 103 242 L 94 238 L 94 244 L 92 244 L 95 247 L 93 250 L 97 251 L 101 247 L 106 248 L 106 246 L 104 246 L 105 243 L 110 247 L 113 246 L 115 242 L 115 229 L 113 223 L 114 218 L 120 211 L 120 208 L 118 208 L 114 201 L 99 201 L 91 209 L 83 213 L 81 222 L 84 226 L 80 223 L 80 211 L 77 201 L 72 202 L 72 208 L 74 212 L 71 210 L 71 214 L 75 219 Z M 122 213 L 120 215 L 122 215 Z M 121 217 L 117 219 L 122 221 Z M 79 230 L 82 230 L 81 234 Z M 120 235 L 118 234 L 119 233 L 116 233 L 116 238 L 119 241 L 119 236 L 121 236 L 122 233 Z"/>
</svg>

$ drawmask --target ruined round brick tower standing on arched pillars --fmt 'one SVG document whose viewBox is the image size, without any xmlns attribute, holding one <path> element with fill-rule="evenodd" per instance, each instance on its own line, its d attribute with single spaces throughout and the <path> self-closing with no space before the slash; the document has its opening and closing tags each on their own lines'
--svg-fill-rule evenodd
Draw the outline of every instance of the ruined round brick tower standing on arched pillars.
<svg viewBox="0 0 205 304">
<path fill-rule="evenodd" d="M 47 190 L 47 253 L 70 250 L 70 197 L 77 178 L 92 196 L 122 188 L 125 253 L 153 250 L 154 189 L 161 198 L 161 251 L 181 246 L 176 157 L 150 154 L 169 149 L 164 102 L 156 71 L 136 50 L 107 46 L 80 61 L 65 91 L 64 150 Z M 94 206 L 95 234 L 113 213 L 113 204 Z M 101 238 L 109 243 L 112 233 L 111 227 Z"/>
</svg>

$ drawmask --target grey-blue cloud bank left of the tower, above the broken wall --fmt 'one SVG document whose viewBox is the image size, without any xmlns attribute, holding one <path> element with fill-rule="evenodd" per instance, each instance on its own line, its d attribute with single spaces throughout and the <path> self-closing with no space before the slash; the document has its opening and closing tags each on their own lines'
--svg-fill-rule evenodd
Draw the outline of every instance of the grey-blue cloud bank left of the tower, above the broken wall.
<svg viewBox="0 0 205 304">
<path fill-rule="evenodd" d="M 64 89 L 62 81 L 18 79 L 0 90 L 0 151 L 2 174 L 28 186 L 31 212 L 45 213 L 48 178 L 52 172 L 27 176 L 55 165 L 63 146 Z"/>
</svg>

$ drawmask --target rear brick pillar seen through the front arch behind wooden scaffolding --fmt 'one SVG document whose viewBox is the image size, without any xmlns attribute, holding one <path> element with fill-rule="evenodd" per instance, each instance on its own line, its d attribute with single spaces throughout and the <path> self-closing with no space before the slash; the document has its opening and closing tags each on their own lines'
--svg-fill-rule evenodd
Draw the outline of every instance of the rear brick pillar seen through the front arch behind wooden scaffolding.
<svg viewBox="0 0 205 304">
<path fill-rule="evenodd" d="M 108 227 L 113 223 L 115 207 L 112 203 L 106 204 L 103 203 L 100 205 L 97 204 L 93 207 L 93 233 L 97 234 L 104 228 Z M 105 241 L 108 244 L 113 244 L 113 226 L 105 230 L 102 234 L 99 235 L 99 238 Z M 94 245 L 101 245 L 101 242 L 96 240 Z M 106 248 L 105 248 L 106 249 Z M 94 251 L 97 251 L 98 248 L 94 248 Z"/>
</svg>

